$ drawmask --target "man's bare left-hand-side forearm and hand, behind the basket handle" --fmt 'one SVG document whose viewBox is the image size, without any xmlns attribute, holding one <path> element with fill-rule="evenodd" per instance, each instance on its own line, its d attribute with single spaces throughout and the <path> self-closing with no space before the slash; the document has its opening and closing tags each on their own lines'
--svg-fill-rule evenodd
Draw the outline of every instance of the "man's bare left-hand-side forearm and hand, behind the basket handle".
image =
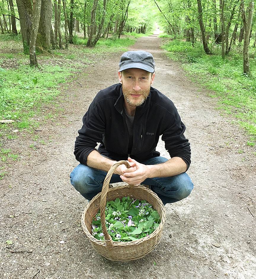
<svg viewBox="0 0 256 279">
<path fill-rule="evenodd" d="M 101 169 L 105 172 L 108 172 L 111 166 L 116 162 L 117 161 L 112 161 L 109 158 L 101 156 L 96 150 L 92 150 L 87 157 L 87 166 L 95 169 Z M 130 161 L 129 165 L 131 166 L 129 169 L 125 165 L 120 165 L 116 168 L 114 173 L 123 175 L 124 173 L 134 172 L 136 170 L 135 163 Z"/>
</svg>

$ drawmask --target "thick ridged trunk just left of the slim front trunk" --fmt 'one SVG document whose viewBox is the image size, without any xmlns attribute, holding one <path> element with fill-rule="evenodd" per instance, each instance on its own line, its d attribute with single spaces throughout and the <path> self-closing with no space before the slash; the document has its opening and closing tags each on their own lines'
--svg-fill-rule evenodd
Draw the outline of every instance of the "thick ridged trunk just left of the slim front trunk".
<svg viewBox="0 0 256 279">
<path fill-rule="evenodd" d="M 29 53 L 30 34 L 32 28 L 33 10 L 30 0 L 16 0 L 20 16 L 20 30 L 24 53 Z"/>
</svg>

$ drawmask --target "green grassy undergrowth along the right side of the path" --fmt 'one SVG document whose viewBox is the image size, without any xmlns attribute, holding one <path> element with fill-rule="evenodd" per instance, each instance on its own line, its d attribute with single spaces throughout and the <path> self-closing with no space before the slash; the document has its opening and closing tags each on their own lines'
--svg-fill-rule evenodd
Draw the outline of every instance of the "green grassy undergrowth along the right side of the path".
<svg viewBox="0 0 256 279">
<path fill-rule="evenodd" d="M 215 46 L 212 55 L 206 55 L 201 43 L 172 40 L 162 48 L 175 61 L 181 61 L 191 80 L 211 90 L 217 98 L 217 109 L 231 115 L 250 135 L 248 145 L 256 142 L 256 48 L 250 48 L 251 75 L 243 74 L 241 47 L 235 47 L 222 59 L 221 46 Z"/>
</svg>

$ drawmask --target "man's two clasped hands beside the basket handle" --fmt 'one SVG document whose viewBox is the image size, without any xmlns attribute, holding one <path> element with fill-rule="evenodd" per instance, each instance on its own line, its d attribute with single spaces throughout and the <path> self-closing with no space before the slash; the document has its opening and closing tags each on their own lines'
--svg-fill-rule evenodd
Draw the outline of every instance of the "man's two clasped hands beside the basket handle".
<svg viewBox="0 0 256 279">
<path fill-rule="evenodd" d="M 120 175 L 121 180 L 134 185 L 140 184 L 148 178 L 148 167 L 146 165 L 140 164 L 130 157 L 128 157 L 128 163 L 131 166 L 129 169 L 125 165 L 116 168 L 115 173 Z"/>
</svg>

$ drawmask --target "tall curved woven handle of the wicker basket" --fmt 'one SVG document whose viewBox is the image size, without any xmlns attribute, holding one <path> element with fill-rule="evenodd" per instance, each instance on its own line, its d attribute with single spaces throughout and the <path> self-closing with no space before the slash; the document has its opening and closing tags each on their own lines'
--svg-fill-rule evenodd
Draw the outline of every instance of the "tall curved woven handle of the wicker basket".
<svg viewBox="0 0 256 279">
<path fill-rule="evenodd" d="M 111 180 L 111 177 L 112 177 L 114 171 L 116 170 L 116 168 L 118 166 L 122 165 L 122 164 L 124 164 L 127 168 L 130 168 L 130 165 L 125 160 L 118 161 L 117 163 L 113 164 L 111 166 L 111 168 L 109 169 L 106 177 L 105 177 L 103 187 L 102 187 L 102 191 L 101 191 L 100 221 L 101 221 L 102 231 L 103 231 L 103 234 L 104 234 L 105 243 L 110 248 L 114 247 L 114 243 L 113 243 L 113 240 L 112 240 L 111 236 L 108 234 L 108 230 L 107 230 L 106 223 L 105 223 L 106 198 L 107 198 L 108 186 L 109 186 L 109 182 Z M 130 185 L 130 186 L 132 187 L 134 185 Z"/>
</svg>

